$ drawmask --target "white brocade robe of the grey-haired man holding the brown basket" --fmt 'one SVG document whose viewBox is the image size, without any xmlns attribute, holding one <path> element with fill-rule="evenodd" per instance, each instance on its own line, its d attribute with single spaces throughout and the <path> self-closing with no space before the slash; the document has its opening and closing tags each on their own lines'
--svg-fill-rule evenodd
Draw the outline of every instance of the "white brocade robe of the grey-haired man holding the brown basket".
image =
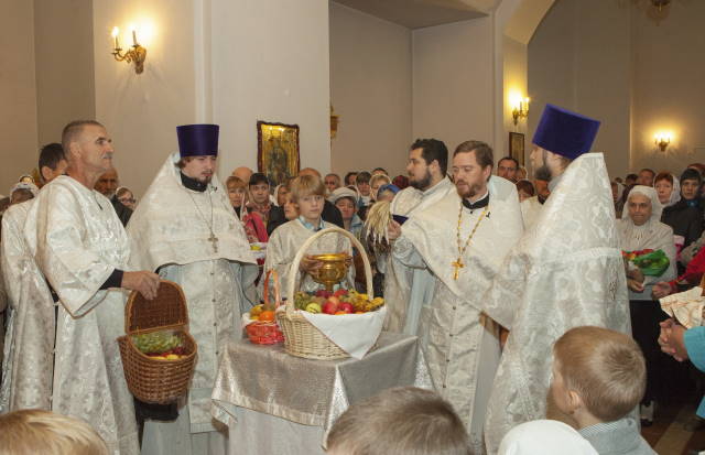
<svg viewBox="0 0 705 455">
<path fill-rule="evenodd" d="M 128 238 L 110 201 L 69 176 L 42 188 L 24 224 L 28 248 L 61 300 L 52 411 L 89 422 L 111 453 L 138 454 L 132 396 L 116 338 L 124 334 L 121 289 Z"/>
</svg>

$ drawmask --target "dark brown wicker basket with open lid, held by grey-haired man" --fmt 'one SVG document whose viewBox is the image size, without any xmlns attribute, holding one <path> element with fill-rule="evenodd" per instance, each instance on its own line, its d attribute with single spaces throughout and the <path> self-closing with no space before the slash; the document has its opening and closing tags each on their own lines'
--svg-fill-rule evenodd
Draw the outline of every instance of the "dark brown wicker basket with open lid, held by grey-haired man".
<svg viewBox="0 0 705 455">
<path fill-rule="evenodd" d="M 196 366 L 197 346 L 188 334 L 186 299 L 178 284 L 162 280 L 156 297 L 147 301 L 132 291 L 124 310 L 124 332 L 118 338 L 124 379 L 130 392 L 147 403 L 166 404 L 183 397 Z M 153 358 L 141 353 L 132 335 L 169 331 L 184 340 L 186 355 L 180 359 Z"/>
</svg>

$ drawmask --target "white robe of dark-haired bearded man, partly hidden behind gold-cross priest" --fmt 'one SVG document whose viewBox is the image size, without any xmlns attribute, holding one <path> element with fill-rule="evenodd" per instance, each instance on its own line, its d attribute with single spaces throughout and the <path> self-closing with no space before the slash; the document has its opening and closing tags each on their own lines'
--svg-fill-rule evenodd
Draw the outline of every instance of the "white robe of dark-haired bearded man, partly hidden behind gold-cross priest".
<svg viewBox="0 0 705 455">
<path fill-rule="evenodd" d="M 426 191 L 409 186 L 397 193 L 392 199 L 390 212 L 393 215 L 411 217 L 454 192 L 455 185 L 448 177 L 444 177 Z M 404 267 L 394 259 L 393 254 L 378 254 L 377 263 L 378 269 L 384 273 L 384 302 L 387 305 L 384 329 L 402 332 L 406 323 L 409 300 L 412 296 L 425 300 L 431 280 L 424 271 Z M 415 289 L 412 289 L 414 286 Z"/>
</svg>

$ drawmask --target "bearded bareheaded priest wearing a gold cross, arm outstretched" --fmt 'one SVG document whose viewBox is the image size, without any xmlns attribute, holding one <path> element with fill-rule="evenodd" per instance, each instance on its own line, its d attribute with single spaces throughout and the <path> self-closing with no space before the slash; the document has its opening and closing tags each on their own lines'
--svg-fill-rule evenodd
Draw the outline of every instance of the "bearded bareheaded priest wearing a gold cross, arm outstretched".
<svg viewBox="0 0 705 455">
<path fill-rule="evenodd" d="M 394 259 L 434 283 L 408 308 L 405 332 L 421 339 L 435 389 L 465 423 L 471 453 L 482 454 L 482 425 L 499 362 L 499 326 L 481 297 L 521 237 L 516 186 L 492 174 L 492 149 L 467 141 L 453 154 L 456 192 L 389 228 Z"/>
</svg>

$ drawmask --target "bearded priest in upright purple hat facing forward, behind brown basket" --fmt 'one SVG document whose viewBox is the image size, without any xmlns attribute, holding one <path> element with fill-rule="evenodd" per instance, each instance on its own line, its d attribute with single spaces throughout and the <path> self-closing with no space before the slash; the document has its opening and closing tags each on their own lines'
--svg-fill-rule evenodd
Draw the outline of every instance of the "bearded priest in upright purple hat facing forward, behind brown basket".
<svg viewBox="0 0 705 455">
<path fill-rule="evenodd" d="M 227 429 L 213 421 L 210 396 L 218 358 L 240 338 L 240 315 L 251 307 L 257 261 L 215 174 L 219 127 L 187 124 L 176 133 L 180 152 L 166 159 L 128 225 L 130 262 L 182 286 L 198 359 L 177 419 L 145 422 L 142 454 L 218 454 L 227 452 Z"/>
</svg>

